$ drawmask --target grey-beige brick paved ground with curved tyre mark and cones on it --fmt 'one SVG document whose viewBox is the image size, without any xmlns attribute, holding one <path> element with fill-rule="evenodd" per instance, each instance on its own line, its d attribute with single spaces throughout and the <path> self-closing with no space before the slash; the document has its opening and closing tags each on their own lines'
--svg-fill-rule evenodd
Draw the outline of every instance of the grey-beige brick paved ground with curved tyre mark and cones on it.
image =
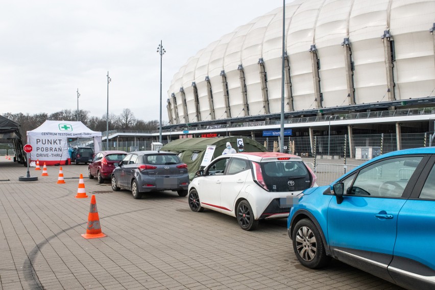
<svg viewBox="0 0 435 290">
<path fill-rule="evenodd" d="M 66 184 L 0 160 L 0 289 L 400 289 L 333 261 L 315 271 L 297 261 L 285 220 L 243 231 L 231 216 L 192 212 L 187 197 L 129 191 L 85 178 L 86 165 L 63 166 Z M 107 237 L 84 239 L 91 194 Z"/>
</svg>

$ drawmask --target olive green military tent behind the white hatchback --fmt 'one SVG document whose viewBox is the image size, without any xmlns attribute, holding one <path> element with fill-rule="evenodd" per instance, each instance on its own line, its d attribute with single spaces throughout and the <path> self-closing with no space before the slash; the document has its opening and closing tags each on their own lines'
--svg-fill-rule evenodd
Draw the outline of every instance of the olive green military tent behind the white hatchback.
<svg viewBox="0 0 435 290">
<path fill-rule="evenodd" d="M 187 164 L 190 180 L 194 179 L 195 173 L 200 170 L 200 165 L 204 157 L 207 146 L 216 146 L 213 158 L 222 154 L 226 148 L 226 143 L 230 142 L 231 146 L 237 151 L 237 139 L 243 140 L 245 152 L 265 152 L 264 146 L 247 137 L 231 136 L 216 138 L 183 138 L 167 143 L 161 148 L 162 151 L 178 153 L 181 160 Z"/>
</svg>

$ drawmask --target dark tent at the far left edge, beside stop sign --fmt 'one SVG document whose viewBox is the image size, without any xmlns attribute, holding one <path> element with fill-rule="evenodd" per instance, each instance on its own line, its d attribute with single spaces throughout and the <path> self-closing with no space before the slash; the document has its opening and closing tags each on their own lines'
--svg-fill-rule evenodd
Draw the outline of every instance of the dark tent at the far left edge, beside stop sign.
<svg viewBox="0 0 435 290">
<path fill-rule="evenodd" d="M 0 115 L 0 139 L 12 140 L 15 151 L 14 161 L 26 164 L 26 156 L 23 151 L 20 125 Z"/>
</svg>

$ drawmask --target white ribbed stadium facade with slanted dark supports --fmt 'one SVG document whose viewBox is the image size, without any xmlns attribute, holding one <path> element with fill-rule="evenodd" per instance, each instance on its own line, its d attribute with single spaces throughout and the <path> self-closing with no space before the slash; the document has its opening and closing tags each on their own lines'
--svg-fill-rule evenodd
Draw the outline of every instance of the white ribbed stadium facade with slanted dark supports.
<svg viewBox="0 0 435 290">
<path fill-rule="evenodd" d="M 168 89 L 168 140 L 276 137 L 283 95 L 286 138 L 308 138 L 300 152 L 331 135 L 395 134 L 395 150 L 414 146 L 406 134 L 424 134 L 414 147 L 430 144 L 435 1 L 295 0 L 285 23 L 283 14 L 261 15 L 187 60 Z"/>
</svg>

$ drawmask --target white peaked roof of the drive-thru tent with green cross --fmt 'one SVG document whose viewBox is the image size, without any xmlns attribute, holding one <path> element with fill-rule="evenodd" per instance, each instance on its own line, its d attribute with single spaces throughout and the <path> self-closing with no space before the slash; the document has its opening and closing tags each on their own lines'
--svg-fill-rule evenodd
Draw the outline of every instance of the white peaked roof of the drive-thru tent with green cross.
<svg viewBox="0 0 435 290">
<path fill-rule="evenodd" d="M 51 135 L 54 136 L 67 136 L 75 138 L 101 136 L 101 132 L 92 131 L 82 122 L 74 121 L 46 120 L 38 128 L 32 131 L 27 131 L 28 136 L 39 136 L 42 133 L 52 133 Z"/>
</svg>

